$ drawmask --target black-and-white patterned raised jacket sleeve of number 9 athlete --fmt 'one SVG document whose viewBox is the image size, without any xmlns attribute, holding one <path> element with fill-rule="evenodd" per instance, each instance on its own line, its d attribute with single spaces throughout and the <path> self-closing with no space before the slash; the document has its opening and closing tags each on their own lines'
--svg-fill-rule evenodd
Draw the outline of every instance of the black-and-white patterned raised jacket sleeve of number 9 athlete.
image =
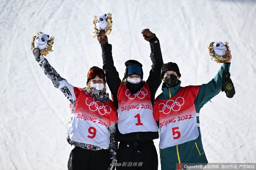
<svg viewBox="0 0 256 170">
<path fill-rule="evenodd" d="M 67 99 L 74 104 L 76 97 L 74 93 L 74 86 L 68 83 L 68 81 L 62 78 L 57 71 L 49 64 L 48 60 L 44 57 L 41 57 L 41 60 L 38 62 L 39 66 L 44 70 L 44 74 L 51 80 L 54 87 L 59 89 Z"/>
</svg>

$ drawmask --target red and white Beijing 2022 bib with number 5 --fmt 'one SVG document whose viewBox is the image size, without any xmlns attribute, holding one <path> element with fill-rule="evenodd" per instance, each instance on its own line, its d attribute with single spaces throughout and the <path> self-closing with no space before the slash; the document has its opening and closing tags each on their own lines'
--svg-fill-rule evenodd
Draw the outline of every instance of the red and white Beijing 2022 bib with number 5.
<svg viewBox="0 0 256 170">
<path fill-rule="evenodd" d="M 198 91 L 199 86 L 186 86 L 171 99 L 155 99 L 154 118 L 159 120 L 161 149 L 198 138 L 194 105 Z"/>
</svg>

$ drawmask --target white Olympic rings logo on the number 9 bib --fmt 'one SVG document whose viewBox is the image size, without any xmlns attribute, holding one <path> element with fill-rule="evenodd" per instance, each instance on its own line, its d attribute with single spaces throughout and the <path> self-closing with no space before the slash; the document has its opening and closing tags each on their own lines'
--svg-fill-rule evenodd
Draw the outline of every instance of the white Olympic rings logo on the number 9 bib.
<svg viewBox="0 0 256 170">
<path fill-rule="evenodd" d="M 92 99 L 93 102 L 88 104 L 87 103 L 88 99 Z M 99 102 L 99 101 L 95 102 L 95 100 L 91 97 L 87 97 L 87 99 L 85 100 L 85 103 L 86 103 L 87 106 L 89 106 L 89 110 L 91 110 L 91 111 L 98 110 L 99 114 L 101 114 L 101 115 L 105 115 L 106 113 L 110 114 L 110 112 L 111 112 L 111 107 L 110 106 L 104 106 L 104 104 Z"/>
</svg>

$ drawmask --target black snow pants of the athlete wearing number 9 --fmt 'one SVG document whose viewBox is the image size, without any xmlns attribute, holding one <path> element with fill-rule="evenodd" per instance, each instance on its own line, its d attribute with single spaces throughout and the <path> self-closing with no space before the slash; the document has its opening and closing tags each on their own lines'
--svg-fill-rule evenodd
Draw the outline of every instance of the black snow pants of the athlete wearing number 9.
<svg viewBox="0 0 256 170">
<path fill-rule="evenodd" d="M 107 149 L 92 151 L 76 146 L 68 159 L 68 170 L 107 170 L 108 167 Z"/>
</svg>

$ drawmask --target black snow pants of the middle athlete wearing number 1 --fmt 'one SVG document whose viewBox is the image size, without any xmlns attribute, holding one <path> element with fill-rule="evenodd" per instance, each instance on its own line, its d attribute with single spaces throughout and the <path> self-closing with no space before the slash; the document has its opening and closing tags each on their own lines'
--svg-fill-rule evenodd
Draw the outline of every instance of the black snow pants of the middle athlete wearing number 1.
<svg viewBox="0 0 256 170">
<path fill-rule="evenodd" d="M 117 170 L 157 170 L 158 157 L 153 140 L 120 142 L 117 149 Z"/>
</svg>

